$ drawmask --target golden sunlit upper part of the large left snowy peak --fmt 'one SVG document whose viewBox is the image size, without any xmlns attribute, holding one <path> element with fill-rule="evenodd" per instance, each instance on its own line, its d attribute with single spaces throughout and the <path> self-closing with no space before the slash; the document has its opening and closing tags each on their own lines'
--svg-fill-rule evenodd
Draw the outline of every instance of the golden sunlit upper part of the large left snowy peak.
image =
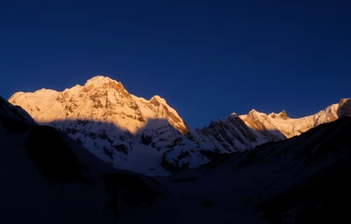
<svg viewBox="0 0 351 224">
<path fill-rule="evenodd" d="M 9 99 L 21 104 L 38 123 L 65 120 L 107 122 L 122 131 L 137 133 L 150 126 L 149 120 L 168 122 L 182 134 L 187 127 L 175 110 L 159 96 L 150 100 L 129 94 L 120 82 L 104 76 L 89 79 L 63 92 L 41 89 L 15 93 Z"/>
</svg>

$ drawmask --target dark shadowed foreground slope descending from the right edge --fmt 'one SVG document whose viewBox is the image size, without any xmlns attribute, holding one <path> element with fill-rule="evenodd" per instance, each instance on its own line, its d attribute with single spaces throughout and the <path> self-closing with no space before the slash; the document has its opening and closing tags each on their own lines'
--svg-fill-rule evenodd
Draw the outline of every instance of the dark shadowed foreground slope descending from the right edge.
<svg viewBox="0 0 351 224">
<path fill-rule="evenodd" d="M 170 223 L 349 223 L 350 136 L 351 118 L 342 117 L 158 178 L 172 192 L 163 207 L 173 210 Z"/>
</svg>

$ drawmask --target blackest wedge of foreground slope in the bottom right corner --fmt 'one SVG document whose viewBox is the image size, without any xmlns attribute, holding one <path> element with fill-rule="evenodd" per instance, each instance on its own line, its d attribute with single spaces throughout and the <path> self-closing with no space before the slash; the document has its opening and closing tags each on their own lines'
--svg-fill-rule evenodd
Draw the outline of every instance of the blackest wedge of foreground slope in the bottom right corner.
<svg viewBox="0 0 351 224">
<path fill-rule="evenodd" d="M 271 224 L 351 223 L 350 155 L 257 206 Z M 346 163 L 349 163 L 346 165 Z"/>
</svg>

